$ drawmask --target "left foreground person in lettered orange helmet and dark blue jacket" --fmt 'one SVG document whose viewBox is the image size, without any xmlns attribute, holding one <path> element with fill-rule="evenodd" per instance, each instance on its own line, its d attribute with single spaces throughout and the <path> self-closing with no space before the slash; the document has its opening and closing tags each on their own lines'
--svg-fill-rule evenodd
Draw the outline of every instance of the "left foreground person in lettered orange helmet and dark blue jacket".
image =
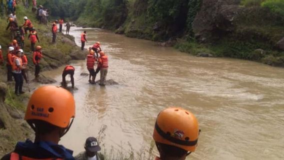
<svg viewBox="0 0 284 160">
<path fill-rule="evenodd" d="M 24 120 L 34 130 L 34 141 L 17 142 L 9 159 L 67 159 L 74 160 L 73 151 L 59 145 L 60 138 L 69 130 L 75 117 L 72 94 L 57 86 L 41 86 L 30 96 Z"/>
</svg>

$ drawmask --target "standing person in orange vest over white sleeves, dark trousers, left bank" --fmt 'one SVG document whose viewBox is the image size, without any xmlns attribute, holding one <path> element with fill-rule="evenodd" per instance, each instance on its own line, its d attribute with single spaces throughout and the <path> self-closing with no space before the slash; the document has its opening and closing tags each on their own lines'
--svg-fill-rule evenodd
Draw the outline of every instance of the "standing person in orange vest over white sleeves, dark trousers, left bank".
<svg viewBox="0 0 284 160">
<path fill-rule="evenodd" d="M 12 74 L 15 79 L 15 94 L 19 96 L 19 94 L 24 93 L 22 91 L 22 84 L 23 84 L 23 79 L 22 79 L 22 74 L 21 74 L 21 69 L 25 69 L 24 66 L 22 66 L 22 60 L 21 60 L 21 55 L 20 51 L 16 51 L 16 57 L 14 57 L 13 63 L 12 63 Z"/>
</svg>

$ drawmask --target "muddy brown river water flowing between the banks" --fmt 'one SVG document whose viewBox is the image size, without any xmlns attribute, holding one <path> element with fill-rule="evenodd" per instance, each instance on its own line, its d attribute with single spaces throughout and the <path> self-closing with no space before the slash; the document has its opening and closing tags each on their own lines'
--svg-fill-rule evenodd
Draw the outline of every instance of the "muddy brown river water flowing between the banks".
<svg viewBox="0 0 284 160">
<path fill-rule="evenodd" d="M 107 79 L 118 85 L 88 83 L 85 61 L 75 70 L 76 117 L 60 143 L 83 150 L 88 136 L 106 125 L 102 148 L 148 150 L 155 117 L 166 106 L 181 106 L 198 118 L 198 147 L 189 159 L 283 159 L 284 69 L 228 58 L 203 58 L 160 47 L 152 41 L 96 28 L 85 48 L 99 40 L 109 56 Z M 45 75 L 61 79 L 62 67 Z M 68 79 L 68 78 L 67 78 Z M 98 79 L 98 77 L 97 77 Z M 154 154 L 156 150 L 154 151 Z"/>
</svg>

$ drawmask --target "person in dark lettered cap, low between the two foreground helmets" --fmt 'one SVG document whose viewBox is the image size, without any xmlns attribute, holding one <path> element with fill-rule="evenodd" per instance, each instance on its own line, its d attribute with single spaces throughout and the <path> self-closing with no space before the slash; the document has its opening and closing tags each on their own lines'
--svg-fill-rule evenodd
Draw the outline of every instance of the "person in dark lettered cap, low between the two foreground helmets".
<svg viewBox="0 0 284 160">
<path fill-rule="evenodd" d="M 97 151 L 100 150 L 100 146 L 98 145 L 98 141 L 96 140 L 95 137 L 92 136 L 88 137 L 85 141 L 84 148 L 85 151 L 82 151 L 75 156 L 76 160 L 88 160 L 88 159 L 99 160 Z"/>
</svg>

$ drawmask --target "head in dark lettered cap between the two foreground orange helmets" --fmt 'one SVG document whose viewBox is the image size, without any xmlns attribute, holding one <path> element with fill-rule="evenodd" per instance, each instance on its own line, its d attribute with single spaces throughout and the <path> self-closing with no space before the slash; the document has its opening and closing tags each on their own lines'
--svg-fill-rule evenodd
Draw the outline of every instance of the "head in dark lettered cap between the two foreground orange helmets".
<svg viewBox="0 0 284 160">
<path fill-rule="evenodd" d="M 84 148 L 88 157 L 93 157 L 96 152 L 100 150 L 100 146 L 98 145 L 96 138 L 92 136 L 86 139 Z"/>
</svg>

